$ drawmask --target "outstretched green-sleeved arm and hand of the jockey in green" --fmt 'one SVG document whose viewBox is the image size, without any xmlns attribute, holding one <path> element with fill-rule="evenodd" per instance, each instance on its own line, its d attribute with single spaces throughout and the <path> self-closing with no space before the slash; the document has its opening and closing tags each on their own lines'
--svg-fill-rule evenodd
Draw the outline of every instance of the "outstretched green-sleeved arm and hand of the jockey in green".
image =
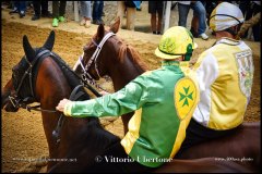
<svg viewBox="0 0 262 174">
<path fill-rule="evenodd" d="M 121 90 L 86 101 L 66 104 L 64 114 L 74 117 L 119 116 L 138 110 L 146 101 L 146 83 L 133 80 Z"/>
</svg>

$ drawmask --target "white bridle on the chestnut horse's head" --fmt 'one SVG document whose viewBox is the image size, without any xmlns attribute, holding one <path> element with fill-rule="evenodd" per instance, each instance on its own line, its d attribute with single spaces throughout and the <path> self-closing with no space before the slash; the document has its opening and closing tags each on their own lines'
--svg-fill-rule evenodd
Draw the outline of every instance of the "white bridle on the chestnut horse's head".
<svg viewBox="0 0 262 174">
<path fill-rule="evenodd" d="M 97 74 L 97 76 L 98 76 L 99 78 L 102 78 L 100 73 L 99 73 L 99 70 L 98 70 L 98 66 L 97 66 L 97 58 L 98 58 L 98 55 L 99 55 L 99 53 L 100 53 L 100 50 L 102 50 L 104 44 L 105 44 L 111 36 L 115 36 L 115 35 L 116 35 L 116 34 L 114 34 L 112 32 L 107 33 L 98 45 L 95 42 L 94 39 L 92 39 L 92 42 L 96 46 L 95 52 L 93 53 L 93 55 L 91 57 L 91 59 L 88 60 L 88 62 L 86 63 L 85 66 L 84 66 L 84 64 L 83 64 L 84 52 L 83 52 L 83 54 L 82 54 L 81 57 L 79 57 L 79 61 L 78 61 L 79 64 L 81 65 L 82 70 L 83 70 L 83 72 L 84 72 L 84 73 L 82 74 L 82 80 L 85 82 L 85 83 L 87 83 L 87 84 L 92 84 L 92 85 L 94 85 L 96 88 L 100 88 L 100 89 L 103 89 L 103 90 L 105 90 L 105 89 L 102 88 L 102 87 L 96 83 L 96 80 L 91 76 L 91 74 L 88 73 L 88 71 L 90 71 L 90 67 L 91 67 L 92 63 L 94 62 L 96 74 Z M 76 63 L 76 64 L 78 64 L 78 63 Z M 108 77 L 106 77 L 106 78 L 108 78 Z M 105 91 L 106 91 L 106 90 L 105 90 Z"/>
</svg>

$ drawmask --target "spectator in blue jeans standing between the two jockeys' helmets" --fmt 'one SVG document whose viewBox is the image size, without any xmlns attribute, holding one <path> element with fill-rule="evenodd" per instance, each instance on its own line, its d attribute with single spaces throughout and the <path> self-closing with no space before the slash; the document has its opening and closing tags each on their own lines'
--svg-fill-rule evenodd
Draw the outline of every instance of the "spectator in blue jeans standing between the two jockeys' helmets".
<svg viewBox="0 0 262 174">
<path fill-rule="evenodd" d="M 209 39 L 209 36 L 205 34 L 206 12 L 201 1 L 179 1 L 178 2 L 178 13 L 179 13 L 178 25 L 187 27 L 187 18 L 188 18 L 188 13 L 190 8 L 193 9 L 194 15 L 196 15 L 199 18 L 199 22 L 198 22 L 199 28 L 195 35 L 198 37 L 201 37 L 204 40 Z"/>
</svg>

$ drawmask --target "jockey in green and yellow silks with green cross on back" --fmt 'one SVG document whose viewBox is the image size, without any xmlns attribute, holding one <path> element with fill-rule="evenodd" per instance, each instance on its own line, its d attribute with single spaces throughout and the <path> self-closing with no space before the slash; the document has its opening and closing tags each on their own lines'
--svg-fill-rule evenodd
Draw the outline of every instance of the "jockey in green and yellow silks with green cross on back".
<svg viewBox="0 0 262 174">
<path fill-rule="evenodd" d="M 71 117 L 122 115 L 135 111 L 121 140 L 124 156 L 121 172 L 145 172 L 172 159 L 199 102 L 199 89 L 189 61 L 196 44 L 181 26 L 165 32 L 155 54 L 162 67 L 145 72 L 115 94 L 86 101 L 63 99 L 57 110 Z M 97 170 L 100 169 L 99 163 Z"/>
</svg>

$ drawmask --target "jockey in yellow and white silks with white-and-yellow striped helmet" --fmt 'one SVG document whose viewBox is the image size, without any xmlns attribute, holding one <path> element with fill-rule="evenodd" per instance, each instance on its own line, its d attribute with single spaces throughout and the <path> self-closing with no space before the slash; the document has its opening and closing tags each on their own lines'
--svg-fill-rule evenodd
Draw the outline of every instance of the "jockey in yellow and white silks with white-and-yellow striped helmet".
<svg viewBox="0 0 262 174">
<path fill-rule="evenodd" d="M 200 54 L 193 69 L 200 102 L 187 129 L 181 150 L 234 132 L 243 122 L 253 82 L 252 50 L 237 33 L 243 23 L 240 9 L 222 2 L 212 12 L 215 45 Z"/>
</svg>

